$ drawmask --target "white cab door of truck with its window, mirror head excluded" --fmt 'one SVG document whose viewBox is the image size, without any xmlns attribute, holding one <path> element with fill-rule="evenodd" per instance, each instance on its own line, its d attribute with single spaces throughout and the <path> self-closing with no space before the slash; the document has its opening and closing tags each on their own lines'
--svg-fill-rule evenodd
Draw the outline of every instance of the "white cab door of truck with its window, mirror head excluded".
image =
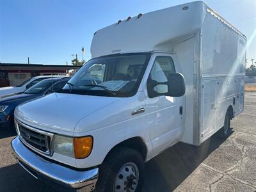
<svg viewBox="0 0 256 192">
<path fill-rule="evenodd" d="M 147 78 L 146 93 L 148 129 L 155 150 L 153 156 L 154 153 L 157 154 L 179 141 L 184 131 L 184 96 L 156 96 L 156 92 L 167 92 L 167 85 L 150 86 L 150 81 L 166 82 L 167 77 L 174 72 L 179 72 L 179 69 L 172 54 L 154 54 Z"/>
</svg>

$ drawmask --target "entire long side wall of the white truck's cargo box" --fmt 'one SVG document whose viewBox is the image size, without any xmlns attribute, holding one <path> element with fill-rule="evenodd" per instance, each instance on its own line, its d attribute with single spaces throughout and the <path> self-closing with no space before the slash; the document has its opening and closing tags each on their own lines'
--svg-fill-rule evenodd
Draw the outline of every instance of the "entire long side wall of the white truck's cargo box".
<svg viewBox="0 0 256 192">
<path fill-rule="evenodd" d="M 239 31 L 207 10 L 200 67 L 201 142 L 223 127 L 227 110 L 234 116 L 243 111 L 245 46 Z"/>
</svg>

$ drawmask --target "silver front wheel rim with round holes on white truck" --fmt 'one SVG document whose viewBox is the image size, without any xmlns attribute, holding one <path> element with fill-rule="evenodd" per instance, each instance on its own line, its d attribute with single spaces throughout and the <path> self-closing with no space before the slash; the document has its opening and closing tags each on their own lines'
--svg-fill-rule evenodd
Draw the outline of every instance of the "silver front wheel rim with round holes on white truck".
<svg viewBox="0 0 256 192">
<path fill-rule="evenodd" d="M 136 164 L 129 162 L 124 164 L 115 178 L 114 192 L 134 192 L 138 186 L 139 181 L 139 169 Z"/>
</svg>

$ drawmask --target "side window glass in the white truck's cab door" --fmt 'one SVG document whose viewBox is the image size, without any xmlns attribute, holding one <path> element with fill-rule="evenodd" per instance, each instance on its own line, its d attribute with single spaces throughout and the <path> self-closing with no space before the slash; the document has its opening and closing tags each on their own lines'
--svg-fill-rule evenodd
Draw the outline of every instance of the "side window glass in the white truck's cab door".
<svg viewBox="0 0 256 192">
<path fill-rule="evenodd" d="M 157 56 L 148 76 L 148 97 L 157 97 L 157 93 L 167 93 L 167 84 L 157 84 L 168 81 L 170 74 L 175 73 L 173 60 L 170 56 Z"/>
</svg>

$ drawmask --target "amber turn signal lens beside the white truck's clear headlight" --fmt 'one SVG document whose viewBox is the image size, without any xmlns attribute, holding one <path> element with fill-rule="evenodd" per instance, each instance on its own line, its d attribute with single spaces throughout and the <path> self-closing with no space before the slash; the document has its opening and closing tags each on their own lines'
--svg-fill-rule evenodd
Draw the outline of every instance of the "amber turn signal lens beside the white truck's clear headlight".
<svg viewBox="0 0 256 192">
<path fill-rule="evenodd" d="M 93 138 L 86 136 L 81 138 L 74 138 L 74 153 L 76 159 L 84 159 L 92 152 Z"/>
</svg>

